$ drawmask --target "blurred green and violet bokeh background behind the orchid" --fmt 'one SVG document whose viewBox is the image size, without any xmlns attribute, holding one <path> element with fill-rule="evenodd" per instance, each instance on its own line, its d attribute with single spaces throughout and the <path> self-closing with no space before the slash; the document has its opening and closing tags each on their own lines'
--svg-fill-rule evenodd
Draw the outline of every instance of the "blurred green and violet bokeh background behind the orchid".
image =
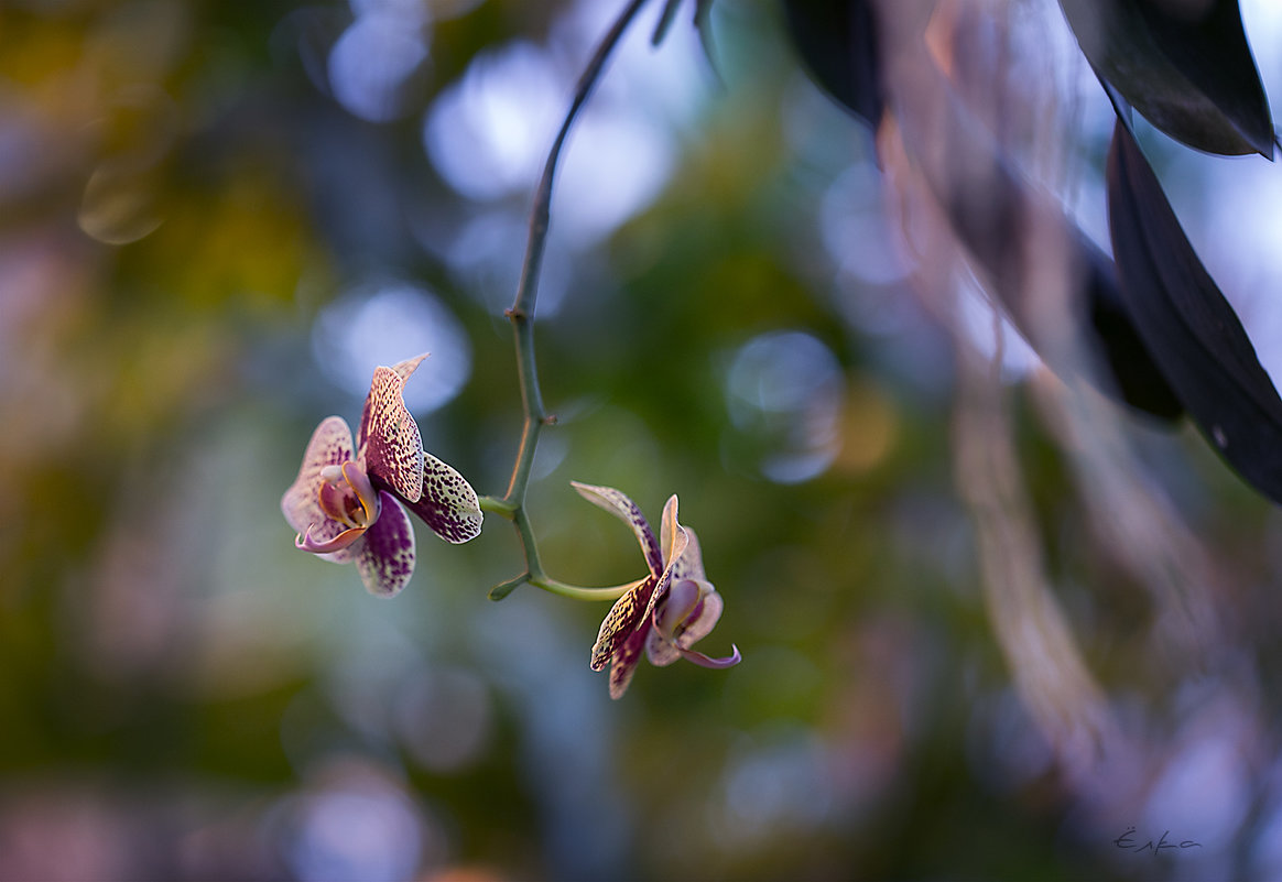
<svg viewBox="0 0 1282 882">
<path fill-rule="evenodd" d="M 391 601 L 292 547 L 312 429 L 424 350 L 424 445 L 504 492 L 503 309 L 620 5 L 0 0 L 0 878 L 1282 878 L 1282 518 L 973 287 L 923 304 L 872 133 L 769 0 L 714 4 L 715 64 L 692 9 L 658 49 L 641 15 L 536 326 L 550 573 L 644 567 L 570 479 L 655 522 L 679 494 L 726 600 L 700 649 L 742 664 L 612 703 L 604 605 L 486 599 L 523 565 L 499 518 L 420 531 Z M 1111 112 L 1058 8 L 1010 8 L 1106 242 Z M 1242 9 L 1277 99 L 1282 15 Z M 1145 146 L 1282 369 L 1278 169 Z"/>
</svg>

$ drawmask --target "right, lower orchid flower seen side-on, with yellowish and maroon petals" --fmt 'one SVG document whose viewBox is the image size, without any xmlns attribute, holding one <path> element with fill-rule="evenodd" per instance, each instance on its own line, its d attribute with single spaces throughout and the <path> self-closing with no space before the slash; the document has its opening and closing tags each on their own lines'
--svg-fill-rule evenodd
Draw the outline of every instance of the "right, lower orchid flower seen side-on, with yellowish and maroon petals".
<svg viewBox="0 0 1282 882">
<path fill-rule="evenodd" d="M 704 668 L 729 668 L 740 663 L 738 647 L 714 659 L 690 649 L 708 636 L 722 614 L 722 599 L 704 573 L 699 537 L 677 523 L 677 497 L 663 508 L 659 538 L 636 503 L 613 487 L 570 482 L 587 501 L 632 527 L 650 574 L 633 582 L 601 623 L 592 646 L 592 670 L 610 663 L 610 697 L 618 699 L 632 682 L 641 650 L 650 664 L 665 667 L 677 659 Z"/>
</svg>

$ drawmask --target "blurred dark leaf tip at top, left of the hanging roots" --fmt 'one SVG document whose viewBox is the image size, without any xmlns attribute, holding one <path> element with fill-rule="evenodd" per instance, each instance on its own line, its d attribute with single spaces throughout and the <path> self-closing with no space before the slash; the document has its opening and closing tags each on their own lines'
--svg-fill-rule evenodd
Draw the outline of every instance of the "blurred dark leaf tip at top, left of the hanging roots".
<svg viewBox="0 0 1282 882">
<path fill-rule="evenodd" d="M 877 19 L 868 0 L 783 0 L 812 77 L 869 126 L 885 106 Z"/>
</svg>

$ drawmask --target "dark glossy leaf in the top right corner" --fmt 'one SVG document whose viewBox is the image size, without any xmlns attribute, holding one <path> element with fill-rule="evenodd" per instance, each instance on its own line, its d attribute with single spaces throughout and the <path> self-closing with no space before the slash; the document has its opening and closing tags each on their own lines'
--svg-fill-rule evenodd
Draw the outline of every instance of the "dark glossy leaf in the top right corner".
<svg viewBox="0 0 1282 882">
<path fill-rule="evenodd" d="M 1060 0 L 1082 53 L 1136 110 L 1206 153 L 1273 158 L 1237 0 Z"/>
</svg>

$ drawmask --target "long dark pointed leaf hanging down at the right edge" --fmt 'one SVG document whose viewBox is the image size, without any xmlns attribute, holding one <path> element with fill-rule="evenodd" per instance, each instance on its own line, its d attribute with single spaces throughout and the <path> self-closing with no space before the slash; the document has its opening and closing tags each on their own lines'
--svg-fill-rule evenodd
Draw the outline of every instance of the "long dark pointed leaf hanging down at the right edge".
<svg viewBox="0 0 1282 882">
<path fill-rule="evenodd" d="M 1122 121 L 1108 185 L 1113 253 L 1135 327 L 1203 435 L 1282 503 L 1282 397 Z"/>
</svg>

